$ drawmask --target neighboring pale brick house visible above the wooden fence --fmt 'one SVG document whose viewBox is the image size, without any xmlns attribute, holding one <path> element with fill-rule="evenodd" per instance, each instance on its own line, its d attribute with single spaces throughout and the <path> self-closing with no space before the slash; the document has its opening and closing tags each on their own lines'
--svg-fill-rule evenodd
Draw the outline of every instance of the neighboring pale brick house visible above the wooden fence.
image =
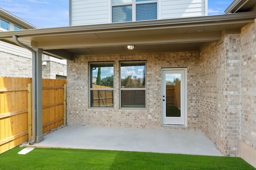
<svg viewBox="0 0 256 170">
<path fill-rule="evenodd" d="M 0 32 L 36 29 L 36 27 L 0 8 Z M 43 78 L 65 78 L 66 60 L 43 55 Z M 0 41 L 0 76 L 32 77 L 32 53 Z"/>
</svg>

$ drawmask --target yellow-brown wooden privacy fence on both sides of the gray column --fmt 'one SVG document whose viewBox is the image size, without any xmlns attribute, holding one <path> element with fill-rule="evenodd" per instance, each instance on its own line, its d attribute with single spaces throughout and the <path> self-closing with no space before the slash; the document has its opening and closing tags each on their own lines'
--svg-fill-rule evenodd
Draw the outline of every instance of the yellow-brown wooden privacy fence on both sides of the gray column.
<svg viewBox="0 0 256 170">
<path fill-rule="evenodd" d="M 0 77 L 0 153 L 31 138 L 32 78 Z M 42 80 L 42 133 L 66 123 L 66 80 Z M 31 140 L 31 139 L 30 139 Z"/>
</svg>

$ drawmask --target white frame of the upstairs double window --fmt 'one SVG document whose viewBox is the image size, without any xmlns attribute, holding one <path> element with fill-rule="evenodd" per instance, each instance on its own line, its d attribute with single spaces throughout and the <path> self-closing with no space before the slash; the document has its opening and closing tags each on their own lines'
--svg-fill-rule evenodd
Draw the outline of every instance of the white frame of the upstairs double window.
<svg viewBox="0 0 256 170">
<path fill-rule="evenodd" d="M 113 6 L 132 5 L 132 21 L 124 21 L 124 22 L 134 22 L 136 21 L 136 5 L 152 4 L 152 3 L 156 3 L 156 20 L 158 20 L 158 4 L 159 4 L 158 0 L 144 0 L 142 2 L 136 2 L 136 0 L 132 0 L 132 2 L 126 2 L 126 3 L 120 3 L 120 4 L 113 4 L 111 0 L 111 23 L 118 23 L 118 22 L 113 22 Z M 139 20 L 139 21 L 150 21 L 150 20 Z"/>
</svg>

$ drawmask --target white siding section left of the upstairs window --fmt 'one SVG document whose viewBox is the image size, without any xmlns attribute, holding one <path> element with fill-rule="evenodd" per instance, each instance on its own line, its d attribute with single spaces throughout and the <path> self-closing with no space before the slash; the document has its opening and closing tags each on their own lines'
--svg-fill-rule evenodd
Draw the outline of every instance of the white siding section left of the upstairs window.
<svg viewBox="0 0 256 170">
<path fill-rule="evenodd" d="M 108 0 L 72 0 L 71 25 L 108 23 Z"/>
</svg>

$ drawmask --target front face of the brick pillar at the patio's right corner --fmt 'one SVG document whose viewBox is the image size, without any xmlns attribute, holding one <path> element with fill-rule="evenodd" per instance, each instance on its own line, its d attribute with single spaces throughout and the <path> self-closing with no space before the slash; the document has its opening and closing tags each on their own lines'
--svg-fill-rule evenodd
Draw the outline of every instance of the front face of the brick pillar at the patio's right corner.
<svg viewBox="0 0 256 170">
<path fill-rule="evenodd" d="M 240 140 L 240 34 L 225 35 L 224 46 L 225 73 L 219 83 L 223 93 L 219 91 L 218 104 L 225 109 L 224 119 L 220 119 L 224 125 L 224 155 L 236 156 Z"/>
</svg>

